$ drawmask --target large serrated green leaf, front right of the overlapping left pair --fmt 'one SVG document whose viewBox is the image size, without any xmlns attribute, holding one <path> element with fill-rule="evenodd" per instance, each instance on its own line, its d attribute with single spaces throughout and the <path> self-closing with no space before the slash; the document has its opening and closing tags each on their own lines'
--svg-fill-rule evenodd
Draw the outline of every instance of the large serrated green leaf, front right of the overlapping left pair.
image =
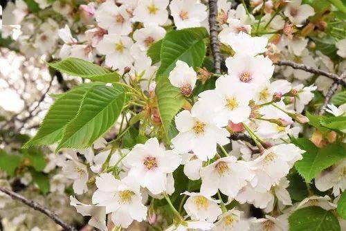
<svg viewBox="0 0 346 231">
<path fill-rule="evenodd" d="M 57 150 L 90 147 L 116 122 L 124 103 L 121 86 L 93 86 L 84 95 L 78 115 L 66 125 Z"/>
</svg>

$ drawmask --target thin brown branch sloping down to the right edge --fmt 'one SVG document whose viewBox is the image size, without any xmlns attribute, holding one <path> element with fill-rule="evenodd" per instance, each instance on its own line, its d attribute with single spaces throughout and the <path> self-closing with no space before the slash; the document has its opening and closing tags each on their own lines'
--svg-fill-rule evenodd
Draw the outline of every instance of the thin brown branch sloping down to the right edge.
<svg viewBox="0 0 346 231">
<path fill-rule="evenodd" d="M 329 77 L 329 79 L 334 80 L 338 84 L 342 84 L 343 86 L 346 86 L 345 80 L 339 78 L 338 75 L 336 75 L 334 73 L 329 73 L 327 71 L 322 71 L 322 70 L 320 70 L 318 68 L 313 68 L 311 66 L 307 66 L 307 65 L 304 65 L 304 64 L 297 64 L 295 62 L 286 61 L 286 60 L 279 61 L 279 62 L 277 62 L 275 64 L 277 66 L 291 66 L 294 69 L 300 69 L 300 70 L 307 71 L 309 73 L 313 73 L 313 74 L 316 74 L 316 75 L 323 75 L 325 77 Z"/>
</svg>

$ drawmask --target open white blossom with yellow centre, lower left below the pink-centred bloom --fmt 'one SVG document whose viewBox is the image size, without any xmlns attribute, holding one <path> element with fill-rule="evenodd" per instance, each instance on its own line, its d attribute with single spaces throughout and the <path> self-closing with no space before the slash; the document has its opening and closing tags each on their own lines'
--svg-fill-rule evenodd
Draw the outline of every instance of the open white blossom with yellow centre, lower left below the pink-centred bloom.
<svg viewBox="0 0 346 231">
<path fill-rule="evenodd" d="M 112 212 L 111 220 L 122 228 L 132 221 L 143 221 L 147 217 L 147 207 L 142 203 L 140 187 L 135 178 L 125 177 L 121 181 L 111 174 L 96 177 L 93 204 L 106 207 L 106 214 Z"/>
</svg>

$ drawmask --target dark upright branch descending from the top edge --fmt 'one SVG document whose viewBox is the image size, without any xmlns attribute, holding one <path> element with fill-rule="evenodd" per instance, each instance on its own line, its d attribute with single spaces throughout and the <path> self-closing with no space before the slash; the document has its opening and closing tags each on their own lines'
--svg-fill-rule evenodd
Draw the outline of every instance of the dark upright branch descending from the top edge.
<svg viewBox="0 0 346 231">
<path fill-rule="evenodd" d="M 221 73 L 222 54 L 219 47 L 219 34 L 217 24 L 217 0 L 209 0 L 209 32 L 210 46 L 212 48 L 212 57 L 214 59 L 215 73 Z"/>
</svg>

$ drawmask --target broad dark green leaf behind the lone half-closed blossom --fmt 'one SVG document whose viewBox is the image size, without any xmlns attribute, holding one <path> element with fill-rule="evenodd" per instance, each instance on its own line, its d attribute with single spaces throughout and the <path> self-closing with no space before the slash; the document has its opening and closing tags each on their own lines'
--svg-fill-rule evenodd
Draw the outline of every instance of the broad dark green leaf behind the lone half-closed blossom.
<svg viewBox="0 0 346 231">
<path fill-rule="evenodd" d="M 186 62 L 189 66 L 201 66 L 206 55 L 206 44 L 203 39 L 208 36 L 206 28 L 172 30 L 167 33 L 161 46 L 158 77 L 168 76 L 177 60 Z"/>
</svg>

